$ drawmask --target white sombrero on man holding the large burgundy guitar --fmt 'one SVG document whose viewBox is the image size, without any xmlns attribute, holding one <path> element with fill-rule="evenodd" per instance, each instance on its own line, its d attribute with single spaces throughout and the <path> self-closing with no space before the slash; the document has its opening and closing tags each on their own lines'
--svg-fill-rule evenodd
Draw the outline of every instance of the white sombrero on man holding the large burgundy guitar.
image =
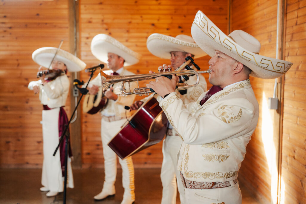
<svg viewBox="0 0 306 204">
<path fill-rule="evenodd" d="M 147 48 L 156 57 L 170 59 L 170 52 L 187 52 L 199 58 L 207 55 L 189 35 L 169 35 L 153 33 L 147 39 Z"/>
</svg>

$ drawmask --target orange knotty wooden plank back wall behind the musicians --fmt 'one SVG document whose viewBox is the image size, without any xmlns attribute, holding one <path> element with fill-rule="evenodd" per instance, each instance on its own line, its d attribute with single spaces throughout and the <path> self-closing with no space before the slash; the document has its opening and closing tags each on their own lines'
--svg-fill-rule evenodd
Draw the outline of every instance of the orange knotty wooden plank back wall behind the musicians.
<svg viewBox="0 0 306 204">
<path fill-rule="evenodd" d="M 198 10 L 226 31 L 227 3 L 227 0 L 80 1 L 81 59 L 88 67 L 100 63 L 91 54 L 90 43 L 95 35 L 105 33 L 143 55 L 140 63 L 129 70 L 135 73 L 155 70 L 169 60 L 148 52 L 146 40 L 150 34 L 190 35 Z M 69 51 L 68 0 L 2 0 L 0 5 L 0 79 L 4 86 L 0 93 L 0 167 L 41 167 L 42 107 L 38 96 L 27 89 L 28 82 L 36 80 L 38 68 L 31 55 L 40 47 L 57 47 L 61 39 L 64 39 L 62 49 Z M 22 12 L 17 12 L 18 9 Z M 208 69 L 208 60 L 209 57 L 203 57 L 196 63 Z M 88 80 L 85 72 L 81 73 L 81 79 Z M 70 116 L 69 104 L 67 100 Z M 103 167 L 100 116 L 83 114 L 81 122 L 83 167 Z M 160 167 L 161 146 L 159 143 L 138 153 L 134 157 L 135 166 Z"/>
</svg>

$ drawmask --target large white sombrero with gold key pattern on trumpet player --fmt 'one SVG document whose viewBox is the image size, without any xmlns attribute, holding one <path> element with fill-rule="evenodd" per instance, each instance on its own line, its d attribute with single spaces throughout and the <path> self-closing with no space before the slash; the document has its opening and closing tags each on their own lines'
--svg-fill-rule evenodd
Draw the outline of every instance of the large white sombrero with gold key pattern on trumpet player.
<svg viewBox="0 0 306 204">
<path fill-rule="evenodd" d="M 259 55 L 260 43 L 256 38 L 241 30 L 227 36 L 201 11 L 193 21 L 191 35 L 209 56 L 214 56 L 215 50 L 219 50 L 250 68 L 250 76 L 275 79 L 293 65 L 289 61 Z"/>
</svg>

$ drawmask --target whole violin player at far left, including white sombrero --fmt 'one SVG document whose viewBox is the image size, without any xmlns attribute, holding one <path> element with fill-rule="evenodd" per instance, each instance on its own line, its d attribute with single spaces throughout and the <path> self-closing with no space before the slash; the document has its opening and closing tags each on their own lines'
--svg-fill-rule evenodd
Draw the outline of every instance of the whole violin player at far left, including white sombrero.
<svg viewBox="0 0 306 204">
<path fill-rule="evenodd" d="M 32 58 L 41 65 L 40 72 L 37 73 L 37 77 L 40 79 L 31 81 L 28 85 L 30 90 L 39 94 L 39 100 L 43 104 L 43 172 L 41 179 L 43 187 L 40 190 L 49 191 L 46 195 L 50 197 L 62 192 L 64 188 L 64 142 L 61 143 L 55 156 L 53 153 L 59 143 L 59 137 L 64 132 L 65 124 L 68 124 L 68 118 L 63 108 L 69 92 L 69 79 L 66 73 L 67 70 L 70 72 L 81 71 L 86 67 L 86 64 L 73 54 L 54 47 L 39 48 L 33 52 Z M 50 69 L 42 70 L 42 66 L 49 67 L 50 64 Z M 69 134 L 69 129 L 67 133 Z M 69 157 L 72 157 L 70 148 Z M 73 188 L 71 158 L 68 158 L 67 167 L 67 187 Z"/>
</svg>

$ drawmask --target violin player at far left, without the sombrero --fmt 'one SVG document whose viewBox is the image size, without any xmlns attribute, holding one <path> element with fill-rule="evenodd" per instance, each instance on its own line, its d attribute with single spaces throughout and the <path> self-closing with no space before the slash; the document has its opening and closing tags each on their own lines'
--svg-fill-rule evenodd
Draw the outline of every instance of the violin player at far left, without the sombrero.
<svg viewBox="0 0 306 204">
<path fill-rule="evenodd" d="M 54 150 L 59 143 L 59 137 L 68 124 L 63 106 L 69 93 L 69 79 L 66 75 L 67 66 L 63 61 L 52 61 L 52 69 L 43 70 L 39 68 L 38 81 L 31 81 L 28 85 L 30 90 L 39 94 L 39 100 L 43 104 L 43 172 L 41 191 L 49 191 L 47 196 L 55 196 L 63 191 L 63 172 L 65 151 L 64 142 L 61 144 L 55 157 Z M 70 145 L 69 145 L 70 146 Z M 63 151 L 62 151 L 63 149 Z M 71 151 L 69 156 L 71 157 Z M 68 159 L 68 183 L 67 187 L 73 188 L 73 176 L 71 170 L 71 159 Z"/>
</svg>

